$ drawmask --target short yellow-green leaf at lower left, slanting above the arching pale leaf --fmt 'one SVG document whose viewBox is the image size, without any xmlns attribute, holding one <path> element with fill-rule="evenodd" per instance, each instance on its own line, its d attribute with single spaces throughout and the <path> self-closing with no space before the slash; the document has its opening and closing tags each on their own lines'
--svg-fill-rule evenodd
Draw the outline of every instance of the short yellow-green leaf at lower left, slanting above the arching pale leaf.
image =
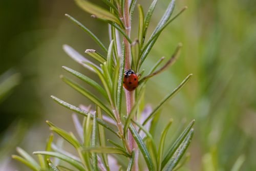
<svg viewBox="0 0 256 171">
<path fill-rule="evenodd" d="M 73 138 L 68 132 L 60 129 L 59 127 L 55 126 L 50 121 L 46 121 L 46 123 L 51 127 L 51 130 L 60 135 L 62 138 L 67 140 L 71 145 L 73 145 L 75 148 L 79 148 L 80 143 L 76 138 Z"/>
</svg>

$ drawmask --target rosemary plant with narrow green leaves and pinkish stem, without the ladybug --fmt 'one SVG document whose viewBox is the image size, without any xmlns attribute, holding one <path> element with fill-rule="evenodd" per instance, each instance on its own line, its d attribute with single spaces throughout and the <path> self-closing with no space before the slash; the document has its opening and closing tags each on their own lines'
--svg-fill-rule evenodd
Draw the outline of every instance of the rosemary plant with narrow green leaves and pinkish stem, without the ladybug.
<svg viewBox="0 0 256 171">
<path fill-rule="evenodd" d="M 184 159 L 183 162 L 179 163 L 193 137 L 194 130 L 192 127 L 194 120 L 179 134 L 172 146 L 167 148 L 164 142 L 173 120 L 170 119 L 165 126 L 158 146 L 154 140 L 154 130 L 156 129 L 161 106 L 181 90 L 190 79 L 191 74 L 174 91 L 167 94 L 155 106 L 155 109 L 148 110 L 148 107 L 145 107 L 143 111 L 140 109 L 143 105 L 142 99 L 147 80 L 172 65 L 176 61 L 182 45 L 178 44 L 173 55 L 167 59 L 162 67 L 159 66 L 164 57 L 160 58 L 146 76 L 143 76 L 144 70 L 141 67 L 161 32 L 186 7 L 172 17 L 175 7 L 175 1 L 172 0 L 157 27 L 146 40 L 147 28 L 150 25 L 157 0 L 152 2 L 146 13 L 143 12 L 141 5 L 136 5 L 136 0 L 102 0 L 102 2 L 108 5 L 109 10 L 89 1 L 75 0 L 75 3 L 84 11 L 92 14 L 94 18 L 109 24 L 111 41 L 108 47 L 105 47 L 100 39 L 89 29 L 72 16 L 66 14 L 68 19 L 88 33 L 102 49 L 104 54 L 89 49 L 85 52 L 96 59 L 99 65 L 86 59 L 72 47 L 63 46 L 63 49 L 70 57 L 90 72 L 98 75 L 101 84 L 73 69 L 62 67 L 68 73 L 97 90 L 101 97 L 95 96 L 70 78 L 61 76 L 61 79 L 70 87 L 89 98 L 95 104 L 95 109 L 92 110 L 90 106 L 77 107 L 51 96 L 54 101 L 76 113 L 73 114 L 73 120 L 79 138 L 75 137 L 73 133 L 62 130 L 52 122 L 47 121 L 53 132 L 74 147 L 76 156 L 67 152 L 60 145 L 55 144 L 53 142 L 53 134 L 51 134 L 45 151 L 33 153 L 38 156 L 39 163 L 22 148 L 17 148 L 20 156 L 13 155 L 12 157 L 23 162 L 32 170 L 177 170 L 186 160 Z M 138 30 L 138 35 L 136 38 L 131 38 L 131 31 L 134 31 L 132 30 L 131 22 L 136 8 L 138 9 L 138 29 L 136 28 L 135 30 Z M 139 78 L 138 87 L 133 91 L 123 88 L 124 72 L 129 69 L 134 71 L 136 78 Z M 123 94 L 125 95 L 126 109 L 121 108 L 124 101 Z M 104 99 L 106 103 L 101 99 Z M 82 123 L 79 121 L 77 114 L 84 116 Z M 116 136 L 116 139 L 106 140 L 106 130 Z M 112 145 L 107 146 L 106 141 Z M 124 156 L 121 162 L 117 155 Z M 119 162 L 117 162 L 118 159 Z M 144 162 L 139 162 L 140 160 Z M 67 163 L 69 165 L 66 165 Z"/>
</svg>

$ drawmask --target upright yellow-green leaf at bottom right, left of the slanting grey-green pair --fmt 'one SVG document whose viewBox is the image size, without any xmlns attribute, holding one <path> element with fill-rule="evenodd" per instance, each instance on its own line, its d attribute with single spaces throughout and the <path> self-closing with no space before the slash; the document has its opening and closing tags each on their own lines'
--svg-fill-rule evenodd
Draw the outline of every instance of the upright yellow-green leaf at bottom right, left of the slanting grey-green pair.
<svg viewBox="0 0 256 171">
<path fill-rule="evenodd" d="M 163 151 L 164 151 L 164 141 L 165 141 L 165 137 L 166 134 L 169 130 L 170 125 L 173 123 L 173 119 L 171 119 L 167 125 L 165 126 L 162 134 L 161 134 L 161 138 L 160 138 L 160 144 L 158 147 L 158 170 L 161 170 L 161 162 L 162 162 L 162 155 L 163 155 Z"/>
</svg>

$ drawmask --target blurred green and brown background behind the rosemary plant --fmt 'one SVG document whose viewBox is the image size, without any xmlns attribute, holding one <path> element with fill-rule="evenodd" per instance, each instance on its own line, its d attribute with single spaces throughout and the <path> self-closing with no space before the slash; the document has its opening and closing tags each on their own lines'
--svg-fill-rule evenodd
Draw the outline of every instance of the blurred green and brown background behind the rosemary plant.
<svg viewBox="0 0 256 171">
<path fill-rule="evenodd" d="M 159 0 L 148 33 L 168 2 Z M 150 1 L 138 3 L 144 5 L 144 11 L 150 5 Z M 184 118 L 196 119 L 195 136 L 188 149 L 190 161 L 183 170 L 231 170 L 243 160 L 241 170 L 256 170 L 256 2 L 180 0 L 176 4 L 174 13 L 183 6 L 188 9 L 162 33 L 143 68 L 147 72 L 160 57 L 169 57 L 178 42 L 183 49 L 174 66 L 148 81 L 146 103 L 156 105 L 186 75 L 194 76 L 164 106 L 159 132 L 168 118 L 174 118 L 169 133 L 172 139 Z M 16 145 L 29 153 L 44 149 L 50 133 L 45 120 L 74 130 L 70 111 L 53 102 L 50 95 L 75 105 L 90 104 L 58 78 L 67 74 L 61 66 L 95 77 L 63 52 L 63 44 L 80 53 L 99 50 L 65 13 L 109 44 L 108 26 L 73 1 L 0 1 L 0 81 L 17 76 L 15 88 L 0 99 L 0 170 L 27 170 L 10 155 Z M 136 25 L 135 19 L 133 35 Z"/>
</svg>

